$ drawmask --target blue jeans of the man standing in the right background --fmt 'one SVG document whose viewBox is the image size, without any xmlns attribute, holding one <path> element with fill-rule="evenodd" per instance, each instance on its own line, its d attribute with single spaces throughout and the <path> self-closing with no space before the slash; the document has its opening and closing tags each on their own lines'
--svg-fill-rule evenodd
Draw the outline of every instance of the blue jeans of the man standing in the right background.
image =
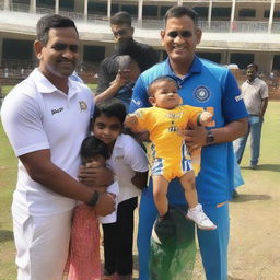
<svg viewBox="0 0 280 280">
<path fill-rule="evenodd" d="M 250 135 L 250 165 L 258 164 L 259 150 L 260 150 L 260 136 L 261 136 L 262 118 L 259 116 L 249 115 L 248 117 L 248 131 L 244 137 L 234 141 L 234 152 L 237 163 L 240 164 L 243 153 Z"/>
</svg>

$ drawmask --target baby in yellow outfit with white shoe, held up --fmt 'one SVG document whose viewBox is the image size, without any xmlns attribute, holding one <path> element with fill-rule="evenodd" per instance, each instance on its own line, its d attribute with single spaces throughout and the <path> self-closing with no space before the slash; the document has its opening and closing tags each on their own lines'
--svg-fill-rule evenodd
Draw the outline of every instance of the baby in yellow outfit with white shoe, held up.
<svg viewBox="0 0 280 280">
<path fill-rule="evenodd" d="M 189 122 L 199 126 L 210 125 L 212 114 L 202 108 L 179 105 L 182 98 L 176 82 L 168 77 L 155 79 L 148 89 L 150 108 L 141 108 L 129 114 L 125 125 L 132 131 L 149 131 L 152 141 L 153 197 L 162 219 L 167 214 L 168 183 L 178 177 L 188 202 L 188 219 L 202 230 L 214 230 L 217 226 L 205 214 L 198 203 L 195 185 L 195 172 L 184 138 L 178 133 Z"/>
</svg>

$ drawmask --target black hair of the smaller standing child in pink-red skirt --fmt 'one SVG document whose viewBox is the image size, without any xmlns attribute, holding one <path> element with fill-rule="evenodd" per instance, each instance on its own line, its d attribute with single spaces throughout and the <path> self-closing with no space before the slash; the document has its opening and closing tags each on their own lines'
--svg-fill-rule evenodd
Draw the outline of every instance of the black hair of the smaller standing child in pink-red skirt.
<svg viewBox="0 0 280 280">
<path fill-rule="evenodd" d="M 103 155 L 106 160 L 109 159 L 107 145 L 94 136 L 89 136 L 83 140 L 80 154 L 83 164 L 96 154 Z"/>
</svg>

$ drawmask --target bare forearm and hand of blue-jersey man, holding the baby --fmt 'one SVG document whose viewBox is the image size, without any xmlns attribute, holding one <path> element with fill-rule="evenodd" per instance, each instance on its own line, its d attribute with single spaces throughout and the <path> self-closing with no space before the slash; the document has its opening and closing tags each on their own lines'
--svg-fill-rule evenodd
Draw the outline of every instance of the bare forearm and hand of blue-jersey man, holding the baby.
<svg viewBox="0 0 280 280">
<path fill-rule="evenodd" d="M 241 118 L 229 122 L 224 127 L 211 129 L 214 141 L 211 144 L 232 142 L 244 136 L 248 129 L 247 118 Z M 191 127 L 185 130 L 185 140 L 190 149 L 198 149 L 207 145 L 207 129 L 205 127 Z"/>
</svg>

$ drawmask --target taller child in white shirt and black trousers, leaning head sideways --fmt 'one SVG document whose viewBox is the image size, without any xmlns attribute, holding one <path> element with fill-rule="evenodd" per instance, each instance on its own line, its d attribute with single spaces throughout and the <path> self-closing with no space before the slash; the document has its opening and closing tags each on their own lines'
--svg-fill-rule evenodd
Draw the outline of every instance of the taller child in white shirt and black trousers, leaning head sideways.
<svg viewBox="0 0 280 280">
<path fill-rule="evenodd" d="M 119 185 L 117 221 L 103 224 L 104 280 L 132 279 L 133 211 L 137 197 L 147 186 L 148 160 L 137 141 L 121 133 L 125 118 L 125 105 L 118 100 L 107 100 L 95 106 L 93 133 L 108 147 L 110 158 L 107 162 Z"/>
</svg>

